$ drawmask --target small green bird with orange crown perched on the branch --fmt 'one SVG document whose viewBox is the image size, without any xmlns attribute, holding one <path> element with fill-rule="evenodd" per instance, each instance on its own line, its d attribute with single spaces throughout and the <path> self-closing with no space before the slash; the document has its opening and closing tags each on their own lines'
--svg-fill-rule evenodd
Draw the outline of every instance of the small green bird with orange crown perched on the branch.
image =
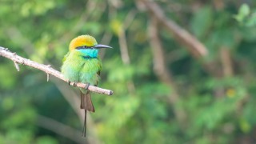
<svg viewBox="0 0 256 144">
<path fill-rule="evenodd" d="M 102 70 L 102 61 L 98 57 L 98 51 L 110 46 L 98 44 L 96 39 L 88 34 L 80 35 L 71 40 L 69 52 L 62 60 L 62 74 L 70 82 L 86 83 L 86 88 L 80 88 L 80 108 L 84 110 L 84 126 L 82 136 L 86 137 L 86 113 L 95 112 L 90 98 L 90 85 L 98 86 Z"/>
</svg>

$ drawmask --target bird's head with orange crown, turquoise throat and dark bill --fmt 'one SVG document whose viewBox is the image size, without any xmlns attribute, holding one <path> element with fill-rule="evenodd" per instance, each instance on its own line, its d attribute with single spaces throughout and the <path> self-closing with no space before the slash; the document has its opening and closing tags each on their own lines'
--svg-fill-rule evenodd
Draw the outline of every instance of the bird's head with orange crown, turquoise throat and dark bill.
<svg viewBox="0 0 256 144">
<path fill-rule="evenodd" d="M 96 39 L 90 35 L 80 35 L 70 42 L 70 51 L 78 50 L 91 58 L 96 58 L 98 56 L 98 49 L 101 48 L 112 47 L 98 44 Z"/>
</svg>

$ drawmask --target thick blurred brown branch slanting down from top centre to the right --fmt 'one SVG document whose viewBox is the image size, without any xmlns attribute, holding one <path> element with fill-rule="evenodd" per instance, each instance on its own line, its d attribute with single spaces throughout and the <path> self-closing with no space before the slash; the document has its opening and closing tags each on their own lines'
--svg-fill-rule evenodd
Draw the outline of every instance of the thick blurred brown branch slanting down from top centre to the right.
<svg viewBox="0 0 256 144">
<path fill-rule="evenodd" d="M 142 2 L 146 6 L 146 9 L 156 17 L 159 24 L 165 26 L 170 33 L 174 34 L 175 38 L 177 38 L 182 44 L 186 45 L 187 50 L 189 50 L 195 58 L 201 58 L 207 55 L 208 51 L 202 42 L 199 42 L 192 34 L 182 29 L 182 27 L 178 26 L 170 18 L 167 18 L 155 2 L 148 0 L 140 0 L 140 2 Z"/>
</svg>

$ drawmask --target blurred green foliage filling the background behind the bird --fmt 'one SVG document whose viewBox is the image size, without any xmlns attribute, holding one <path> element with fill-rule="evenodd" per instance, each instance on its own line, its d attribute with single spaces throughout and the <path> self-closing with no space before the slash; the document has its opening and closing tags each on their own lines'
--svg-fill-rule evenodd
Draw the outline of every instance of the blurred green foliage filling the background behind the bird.
<svg viewBox="0 0 256 144">
<path fill-rule="evenodd" d="M 159 26 L 171 83 L 154 70 L 152 15 L 139 1 L 1 0 L 0 46 L 57 70 L 79 34 L 114 47 L 101 52 L 100 83 L 114 95 L 93 94 L 96 113 L 90 114 L 85 142 L 255 143 L 256 2 L 155 2 L 209 51 L 195 58 Z M 122 34 L 130 62 L 122 58 Z M 231 72 L 225 73 L 223 51 Z M 42 71 L 20 67 L 17 72 L 13 62 L 0 58 L 0 143 L 75 143 L 38 124 L 43 116 L 82 131 L 82 119 L 59 88 L 67 84 L 52 77 L 46 82 Z"/>
</svg>

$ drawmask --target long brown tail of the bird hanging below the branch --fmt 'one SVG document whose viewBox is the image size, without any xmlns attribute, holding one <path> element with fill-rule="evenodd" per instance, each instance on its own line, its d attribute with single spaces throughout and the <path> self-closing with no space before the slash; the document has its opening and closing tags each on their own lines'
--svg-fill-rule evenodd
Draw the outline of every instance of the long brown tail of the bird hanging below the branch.
<svg viewBox="0 0 256 144">
<path fill-rule="evenodd" d="M 85 119 L 84 119 L 84 124 L 83 124 L 84 126 L 83 126 L 83 130 L 82 130 L 82 136 L 86 137 L 86 113 L 87 113 L 87 110 L 91 111 L 91 112 L 95 112 L 95 110 L 94 110 L 94 104 L 90 98 L 89 90 L 86 91 L 86 94 L 82 93 L 82 91 L 81 91 L 80 97 L 81 97 L 80 108 L 85 110 Z"/>
</svg>

